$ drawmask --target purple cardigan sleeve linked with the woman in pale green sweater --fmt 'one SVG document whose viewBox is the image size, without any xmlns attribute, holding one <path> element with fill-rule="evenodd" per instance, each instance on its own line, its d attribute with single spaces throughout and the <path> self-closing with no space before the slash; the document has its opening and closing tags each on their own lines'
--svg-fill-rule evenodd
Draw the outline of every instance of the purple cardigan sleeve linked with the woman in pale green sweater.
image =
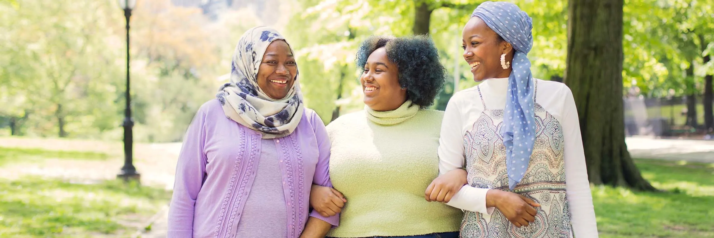
<svg viewBox="0 0 714 238">
<path fill-rule="evenodd" d="M 311 124 L 315 130 L 315 137 L 317 138 L 318 146 L 318 162 L 315 167 L 315 176 L 313 177 L 313 184 L 320 186 L 332 187 L 332 182 L 330 181 L 330 139 L 327 135 L 327 129 L 325 124 L 323 124 L 322 119 L 318 114 L 313 112 L 311 116 Z M 340 214 L 336 214 L 332 217 L 323 217 L 319 212 L 310 212 L 310 217 L 316 217 L 329 224 L 332 224 L 332 228 L 335 228 L 340 223 Z"/>
</svg>

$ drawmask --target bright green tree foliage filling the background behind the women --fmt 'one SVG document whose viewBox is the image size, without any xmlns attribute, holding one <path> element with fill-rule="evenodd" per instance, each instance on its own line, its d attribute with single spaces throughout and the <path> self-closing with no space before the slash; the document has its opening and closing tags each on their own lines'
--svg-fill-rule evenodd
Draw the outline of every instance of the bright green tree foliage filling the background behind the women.
<svg viewBox="0 0 714 238">
<path fill-rule="evenodd" d="M 416 18 L 426 17 L 416 15 L 421 4 L 431 12 L 429 34 L 451 75 L 433 108 L 444 109 L 453 91 L 476 85 L 463 61 L 461 30 L 482 1 L 276 2 L 211 20 L 169 0 L 139 1 L 131 17 L 135 139 L 181 140 L 198 107 L 227 81 L 238 38 L 257 25 L 278 29 L 296 50 L 306 105 L 324 122 L 337 107 L 341 114 L 363 108 L 354 65 L 359 43 L 412 34 Z M 567 1 L 513 2 L 533 17 L 533 75 L 563 76 Z M 625 88 L 637 86 L 645 96 L 668 96 L 669 89 L 674 96 L 700 94 L 702 77 L 714 73 L 714 61 L 702 60 L 714 52 L 713 6 L 713 0 L 626 0 Z M 123 13 L 113 1 L 0 1 L 0 31 L 0 128 L 56 136 L 63 119 L 68 137 L 121 139 L 126 43 Z"/>
</svg>

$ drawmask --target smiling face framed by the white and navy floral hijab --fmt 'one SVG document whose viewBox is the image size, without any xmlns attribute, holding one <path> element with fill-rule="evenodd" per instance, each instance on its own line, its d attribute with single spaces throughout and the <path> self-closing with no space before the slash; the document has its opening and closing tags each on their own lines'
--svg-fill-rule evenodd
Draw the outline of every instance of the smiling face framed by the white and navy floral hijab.
<svg viewBox="0 0 714 238">
<path fill-rule="evenodd" d="M 283 40 L 271 42 L 258 68 L 258 86 L 271 99 L 283 99 L 297 75 L 298 66 L 288 43 Z"/>
</svg>

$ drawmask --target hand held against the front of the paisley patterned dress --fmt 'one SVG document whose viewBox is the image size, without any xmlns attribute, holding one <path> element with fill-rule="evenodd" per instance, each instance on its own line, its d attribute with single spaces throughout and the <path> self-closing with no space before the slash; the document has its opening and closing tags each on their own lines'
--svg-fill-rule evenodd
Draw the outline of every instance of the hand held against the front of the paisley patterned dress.
<svg viewBox="0 0 714 238">
<path fill-rule="evenodd" d="M 537 211 L 533 207 L 540 204 L 515 192 L 491 189 L 486 193 L 486 207 L 496 207 L 516 227 L 523 227 L 535 221 Z"/>
</svg>

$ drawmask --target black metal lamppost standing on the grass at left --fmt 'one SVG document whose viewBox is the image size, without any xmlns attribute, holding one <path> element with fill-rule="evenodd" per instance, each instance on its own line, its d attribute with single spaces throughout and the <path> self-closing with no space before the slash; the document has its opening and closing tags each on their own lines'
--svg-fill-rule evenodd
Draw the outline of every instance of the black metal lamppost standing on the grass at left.
<svg viewBox="0 0 714 238">
<path fill-rule="evenodd" d="M 116 174 L 116 177 L 124 180 L 139 180 L 141 175 L 136 172 L 131 157 L 131 147 L 134 144 L 131 127 L 134 127 L 134 120 L 131 119 L 131 96 L 129 95 L 129 18 L 131 18 L 131 9 L 136 6 L 136 0 L 119 0 L 119 6 L 124 10 L 124 17 L 126 17 L 126 109 L 124 109 L 124 123 L 122 124 L 124 126 L 124 167 L 121 167 L 121 172 Z"/>
</svg>

